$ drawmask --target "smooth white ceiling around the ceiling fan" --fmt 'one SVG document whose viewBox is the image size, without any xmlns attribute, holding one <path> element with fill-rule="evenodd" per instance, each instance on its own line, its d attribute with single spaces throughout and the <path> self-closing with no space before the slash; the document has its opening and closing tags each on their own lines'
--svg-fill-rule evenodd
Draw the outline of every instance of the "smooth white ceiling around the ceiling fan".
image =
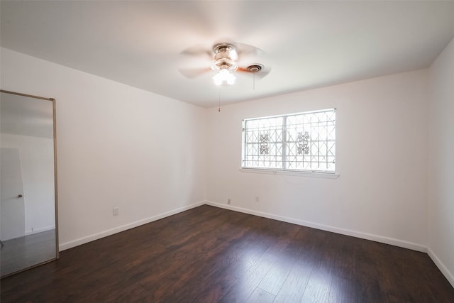
<svg viewBox="0 0 454 303">
<path fill-rule="evenodd" d="M 428 67 L 454 37 L 454 1 L 1 1 L 1 46 L 199 106 Z M 216 87 L 184 55 L 254 45 L 270 74 Z M 221 94 L 219 90 L 221 89 Z"/>
</svg>

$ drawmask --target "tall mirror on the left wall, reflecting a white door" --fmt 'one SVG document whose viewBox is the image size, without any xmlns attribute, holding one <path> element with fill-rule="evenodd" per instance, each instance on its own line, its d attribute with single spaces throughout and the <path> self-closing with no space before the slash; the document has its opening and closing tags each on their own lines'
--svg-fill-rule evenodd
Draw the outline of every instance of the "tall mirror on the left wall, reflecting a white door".
<svg viewBox="0 0 454 303">
<path fill-rule="evenodd" d="M 0 93 L 0 275 L 58 258 L 55 100 Z"/>
</svg>

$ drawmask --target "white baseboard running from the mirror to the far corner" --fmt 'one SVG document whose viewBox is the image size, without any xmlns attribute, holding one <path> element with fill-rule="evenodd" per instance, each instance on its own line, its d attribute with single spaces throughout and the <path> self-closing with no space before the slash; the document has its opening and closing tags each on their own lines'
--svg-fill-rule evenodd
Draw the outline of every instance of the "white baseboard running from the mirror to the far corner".
<svg viewBox="0 0 454 303">
<path fill-rule="evenodd" d="M 151 216 L 150 218 L 147 218 L 147 219 L 135 221 L 133 223 L 125 224 L 123 226 L 118 226 L 116 228 L 111 228 L 111 229 L 106 230 L 106 231 L 101 231 L 100 233 L 94 233 L 92 235 L 85 236 L 85 237 L 82 237 L 82 238 L 78 238 L 78 239 L 73 240 L 73 241 L 60 243 L 60 245 L 58 246 L 58 249 L 60 251 L 67 250 L 69 248 L 73 248 L 75 246 L 79 246 L 79 245 L 82 245 L 82 244 L 85 244 L 85 243 L 88 243 L 88 242 L 91 242 L 91 241 L 94 241 L 94 240 L 98 240 L 98 239 L 104 238 L 106 236 L 111 236 L 111 235 L 113 235 L 115 233 L 120 233 L 121 231 L 126 231 L 128 229 L 135 228 L 135 227 L 143 225 L 143 224 L 148 224 L 150 222 L 165 218 L 166 216 L 172 216 L 174 214 L 178 214 L 178 213 L 180 213 L 182 211 L 187 211 L 188 209 L 193 209 L 194 207 L 201 206 L 201 205 L 204 205 L 204 204 L 205 204 L 205 202 L 194 203 L 194 204 L 191 204 L 191 205 L 180 207 L 178 209 L 174 209 L 172 211 L 166 211 L 165 213 L 158 214 L 156 216 Z"/>
</svg>

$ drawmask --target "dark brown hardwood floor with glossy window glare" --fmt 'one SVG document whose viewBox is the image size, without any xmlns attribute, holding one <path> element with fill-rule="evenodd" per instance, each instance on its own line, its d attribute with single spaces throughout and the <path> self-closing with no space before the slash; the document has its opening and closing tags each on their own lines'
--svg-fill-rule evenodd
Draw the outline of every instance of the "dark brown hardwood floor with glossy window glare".
<svg viewBox="0 0 454 303">
<path fill-rule="evenodd" d="M 426 253 L 200 206 L 64 250 L 1 302 L 454 302 Z"/>
</svg>

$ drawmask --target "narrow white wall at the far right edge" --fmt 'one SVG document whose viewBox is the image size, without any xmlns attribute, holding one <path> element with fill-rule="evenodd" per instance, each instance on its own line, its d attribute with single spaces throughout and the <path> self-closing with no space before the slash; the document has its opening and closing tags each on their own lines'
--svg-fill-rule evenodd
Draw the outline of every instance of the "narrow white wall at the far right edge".
<svg viewBox="0 0 454 303">
<path fill-rule="evenodd" d="M 454 40 L 429 72 L 428 247 L 454 286 Z"/>
</svg>

